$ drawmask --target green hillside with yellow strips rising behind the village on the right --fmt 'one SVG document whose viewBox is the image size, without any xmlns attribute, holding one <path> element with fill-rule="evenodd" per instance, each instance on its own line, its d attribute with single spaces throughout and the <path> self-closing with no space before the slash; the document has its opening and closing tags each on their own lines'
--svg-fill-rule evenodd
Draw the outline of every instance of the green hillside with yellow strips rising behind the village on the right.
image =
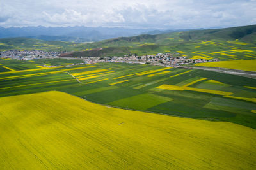
<svg viewBox="0 0 256 170">
<path fill-rule="evenodd" d="M 253 59 L 256 56 L 255 37 L 256 25 L 156 35 L 143 34 L 78 45 L 75 50 L 81 52 L 74 53 L 74 56 L 91 56 L 90 50 L 93 48 L 109 47 L 111 49 L 108 49 L 108 55 L 119 55 L 115 50 L 126 47 L 129 53 L 138 55 L 181 52 L 182 55 L 194 59 L 196 57 L 202 59 L 218 58 L 220 60 Z M 97 55 L 104 56 L 106 53 L 97 53 Z"/>
</svg>

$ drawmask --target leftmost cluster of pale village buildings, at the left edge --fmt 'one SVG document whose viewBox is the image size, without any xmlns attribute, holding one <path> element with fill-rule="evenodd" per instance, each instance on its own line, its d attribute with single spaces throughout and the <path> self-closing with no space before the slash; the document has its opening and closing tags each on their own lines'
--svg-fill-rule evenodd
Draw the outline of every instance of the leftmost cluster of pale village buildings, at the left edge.
<svg viewBox="0 0 256 170">
<path fill-rule="evenodd" d="M 40 59 L 44 57 L 59 57 L 63 52 L 44 52 L 42 50 L 33 50 L 33 51 L 19 51 L 19 50 L 10 50 L 10 51 L 0 51 L 0 57 L 9 57 L 17 60 L 32 60 Z"/>
</svg>

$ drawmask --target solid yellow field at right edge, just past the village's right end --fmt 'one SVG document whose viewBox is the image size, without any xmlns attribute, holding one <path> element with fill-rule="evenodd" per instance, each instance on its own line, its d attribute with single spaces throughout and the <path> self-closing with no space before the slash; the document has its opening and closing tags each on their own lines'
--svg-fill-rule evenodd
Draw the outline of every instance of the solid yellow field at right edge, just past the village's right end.
<svg viewBox="0 0 256 170">
<path fill-rule="evenodd" d="M 195 64 L 204 67 L 221 67 L 227 69 L 240 69 L 245 71 L 256 71 L 256 60 L 230 60 L 220 62 L 204 62 Z"/>
</svg>

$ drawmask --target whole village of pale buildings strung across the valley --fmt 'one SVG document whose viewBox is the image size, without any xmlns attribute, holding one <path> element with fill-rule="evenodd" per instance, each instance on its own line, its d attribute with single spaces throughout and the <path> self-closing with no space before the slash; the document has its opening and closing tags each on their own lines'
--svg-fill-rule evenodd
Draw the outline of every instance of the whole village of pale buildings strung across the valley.
<svg viewBox="0 0 256 170">
<path fill-rule="evenodd" d="M 63 57 L 65 52 L 44 52 L 40 50 L 33 51 L 17 51 L 10 50 L 0 52 L 1 58 L 12 58 L 17 60 L 33 60 L 33 59 L 45 59 L 45 58 L 65 58 L 65 59 L 79 59 L 83 60 L 83 64 L 93 64 L 99 62 L 125 62 L 130 64 L 152 64 L 164 67 L 175 67 L 189 64 L 195 64 L 200 62 L 216 62 L 218 59 L 205 60 L 205 59 L 188 59 L 179 53 L 158 53 L 157 55 L 143 55 L 138 56 L 136 54 L 127 54 L 123 57 L 120 56 L 108 56 L 108 57 Z M 65 56 L 65 55 L 64 55 Z"/>
</svg>

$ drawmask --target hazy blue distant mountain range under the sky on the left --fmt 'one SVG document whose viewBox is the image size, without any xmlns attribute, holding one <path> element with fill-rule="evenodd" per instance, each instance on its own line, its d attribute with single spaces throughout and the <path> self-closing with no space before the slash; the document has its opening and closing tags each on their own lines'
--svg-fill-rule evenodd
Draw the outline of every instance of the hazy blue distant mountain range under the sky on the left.
<svg viewBox="0 0 256 170">
<path fill-rule="evenodd" d="M 147 31 L 152 31 L 152 29 L 126 29 L 118 27 L 0 27 L 0 38 L 30 37 L 44 40 L 59 40 L 61 38 L 46 36 L 61 36 L 62 38 L 65 37 L 61 41 L 74 41 L 74 39 L 77 39 L 76 42 L 92 42 L 120 36 L 135 36 Z"/>
</svg>

